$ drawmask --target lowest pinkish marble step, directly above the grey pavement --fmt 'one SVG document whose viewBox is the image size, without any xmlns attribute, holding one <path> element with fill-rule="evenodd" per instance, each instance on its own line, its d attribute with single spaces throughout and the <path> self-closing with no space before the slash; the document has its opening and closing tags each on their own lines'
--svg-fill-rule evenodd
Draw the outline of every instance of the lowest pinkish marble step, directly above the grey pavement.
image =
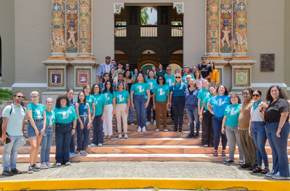
<svg viewBox="0 0 290 191">
<path fill-rule="evenodd" d="M 98 161 L 193 161 L 193 162 L 223 162 L 228 159 L 228 155 L 222 157 L 213 157 L 212 154 L 89 154 L 86 156 L 77 156 L 70 158 L 70 162 L 98 162 Z M 234 155 L 235 162 L 238 162 L 239 155 Z M 288 155 L 288 159 L 290 156 Z M 268 155 L 269 163 L 273 163 L 272 155 Z M 51 163 L 55 163 L 55 154 L 50 154 Z M 40 155 L 37 157 L 37 163 L 40 162 Z M 2 155 L 0 155 L 2 163 Z M 17 155 L 17 163 L 29 163 L 29 154 Z"/>
</svg>

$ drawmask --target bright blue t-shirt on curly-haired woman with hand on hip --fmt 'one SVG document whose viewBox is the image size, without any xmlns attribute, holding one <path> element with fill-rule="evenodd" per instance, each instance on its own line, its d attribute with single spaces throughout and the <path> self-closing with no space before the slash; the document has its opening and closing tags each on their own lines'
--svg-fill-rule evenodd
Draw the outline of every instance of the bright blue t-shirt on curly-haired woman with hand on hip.
<svg viewBox="0 0 290 191">
<path fill-rule="evenodd" d="M 224 117 L 224 110 L 230 104 L 230 95 L 213 96 L 209 103 L 213 105 L 215 116 Z"/>
</svg>

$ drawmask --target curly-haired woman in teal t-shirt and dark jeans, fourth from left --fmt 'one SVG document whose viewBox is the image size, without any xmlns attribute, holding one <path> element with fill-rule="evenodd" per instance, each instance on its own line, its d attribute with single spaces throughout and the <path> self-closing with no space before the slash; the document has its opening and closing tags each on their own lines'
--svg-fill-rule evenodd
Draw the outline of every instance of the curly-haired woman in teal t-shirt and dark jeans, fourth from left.
<svg viewBox="0 0 290 191">
<path fill-rule="evenodd" d="M 70 165 L 70 139 L 75 133 L 77 114 L 67 95 L 57 96 L 55 108 L 55 160 L 56 165 Z"/>
</svg>

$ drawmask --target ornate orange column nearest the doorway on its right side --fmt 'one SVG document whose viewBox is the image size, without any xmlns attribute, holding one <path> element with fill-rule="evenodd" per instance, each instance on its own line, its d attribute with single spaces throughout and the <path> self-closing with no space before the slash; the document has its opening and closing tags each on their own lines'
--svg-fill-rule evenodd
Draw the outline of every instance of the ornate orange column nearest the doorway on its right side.
<svg viewBox="0 0 290 191">
<path fill-rule="evenodd" d="M 219 49 L 219 1 L 206 1 L 206 55 L 209 58 L 220 57 Z"/>
</svg>

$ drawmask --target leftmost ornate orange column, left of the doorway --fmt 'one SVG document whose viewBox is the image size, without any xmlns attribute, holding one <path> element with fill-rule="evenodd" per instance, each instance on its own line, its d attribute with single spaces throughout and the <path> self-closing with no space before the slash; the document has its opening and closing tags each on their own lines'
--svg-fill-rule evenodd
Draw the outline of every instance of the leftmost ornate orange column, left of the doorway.
<svg viewBox="0 0 290 191">
<path fill-rule="evenodd" d="M 52 0 L 51 16 L 52 16 L 52 36 L 51 36 L 51 55 L 52 57 L 65 56 L 65 12 L 63 0 Z"/>
</svg>

